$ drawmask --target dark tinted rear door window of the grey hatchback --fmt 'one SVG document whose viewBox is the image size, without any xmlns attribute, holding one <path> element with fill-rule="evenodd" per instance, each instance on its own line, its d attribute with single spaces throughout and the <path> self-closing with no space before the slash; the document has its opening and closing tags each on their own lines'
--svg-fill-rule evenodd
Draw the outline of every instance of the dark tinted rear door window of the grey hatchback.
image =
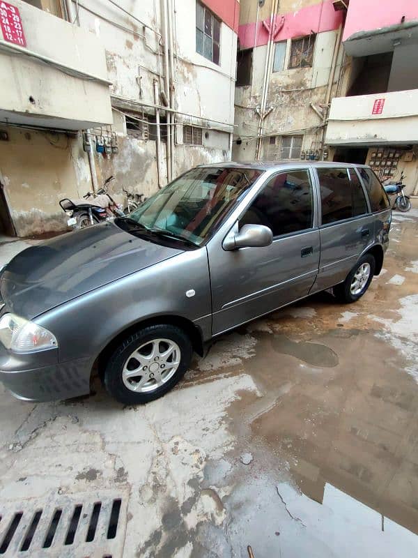
<svg viewBox="0 0 418 558">
<path fill-rule="evenodd" d="M 316 169 L 318 172 L 322 224 L 329 225 L 367 213 L 366 197 L 353 169 Z"/>
</svg>

